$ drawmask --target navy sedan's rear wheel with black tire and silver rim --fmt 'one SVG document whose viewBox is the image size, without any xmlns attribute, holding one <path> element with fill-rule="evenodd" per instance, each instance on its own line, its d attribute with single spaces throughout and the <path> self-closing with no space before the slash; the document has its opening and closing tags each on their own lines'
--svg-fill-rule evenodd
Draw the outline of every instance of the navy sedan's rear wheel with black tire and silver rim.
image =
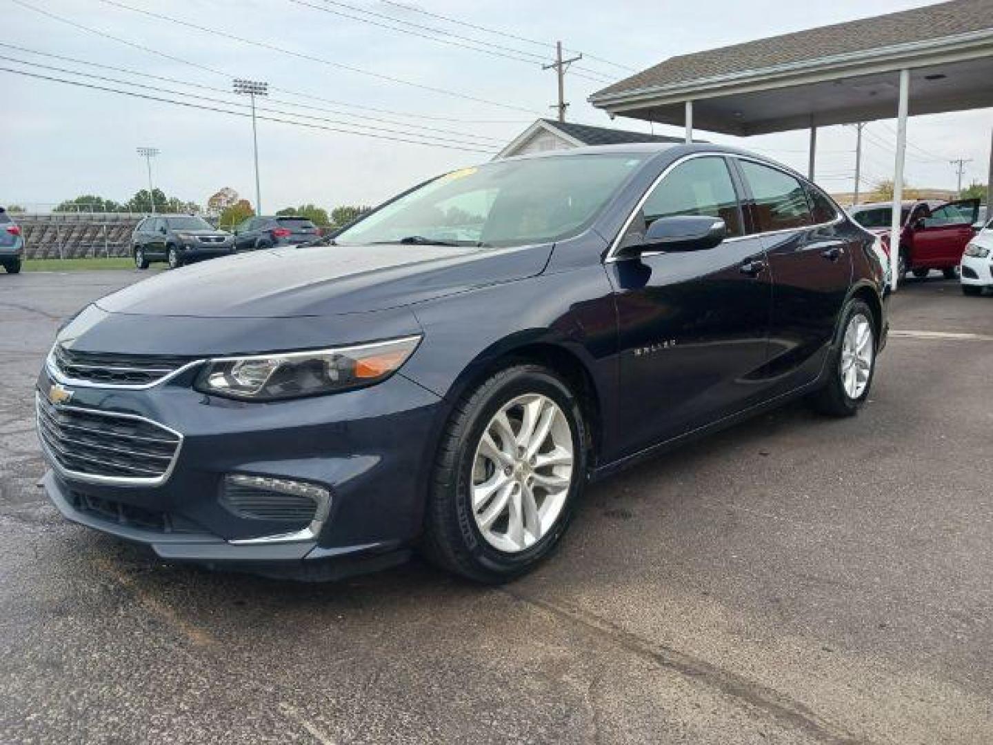
<svg viewBox="0 0 993 745">
<path fill-rule="evenodd" d="M 850 300 L 841 314 L 841 334 L 828 360 L 828 379 L 810 396 L 815 409 L 829 416 L 854 416 L 869 397 L 876 372 L 876 331 L 872 310 Z"/>
</svg>

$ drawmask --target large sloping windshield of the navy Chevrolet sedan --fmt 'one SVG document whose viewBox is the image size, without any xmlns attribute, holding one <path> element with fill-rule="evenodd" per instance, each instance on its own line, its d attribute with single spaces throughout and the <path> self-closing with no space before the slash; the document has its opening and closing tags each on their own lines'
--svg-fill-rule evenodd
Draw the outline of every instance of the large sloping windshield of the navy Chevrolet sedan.
<svg viewBox="0 0 993 745">
<path fill-rule="evenodd" d="M 336 236 L 337 243 L 526 245 L 590 224 L 646 156 L 502 161 L 441 176 Z"/>
</svg>

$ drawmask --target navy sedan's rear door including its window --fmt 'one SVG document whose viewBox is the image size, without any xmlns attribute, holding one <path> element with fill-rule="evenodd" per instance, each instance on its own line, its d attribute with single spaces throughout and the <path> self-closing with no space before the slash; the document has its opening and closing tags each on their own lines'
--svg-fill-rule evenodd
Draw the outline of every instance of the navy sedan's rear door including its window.
<svg viewBox="0 0 993 745">
<path fill-rule="evenodd" d="M 819 190 L 792 174 L 738 159 L 753 229 L 762 235 L 773 280 L 771 394 L 813 380 L 821 370 L 852 279 L 847 221 Z"/>
</svg>

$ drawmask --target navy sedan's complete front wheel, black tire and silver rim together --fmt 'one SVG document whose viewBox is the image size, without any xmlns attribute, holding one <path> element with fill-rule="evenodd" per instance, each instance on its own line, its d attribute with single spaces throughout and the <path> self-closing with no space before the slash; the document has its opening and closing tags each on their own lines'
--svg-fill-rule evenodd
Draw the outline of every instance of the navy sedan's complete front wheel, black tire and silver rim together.
<svg viewBox="0 0 993 745">
<path fill-rule="evenodd" d="M 424 551 L 499 583 L 533 569 L 565 533 L 586 481 L 576 396 L 536 365 L 501 370 L 455 407 L 435 464 Z"/>
</svg>

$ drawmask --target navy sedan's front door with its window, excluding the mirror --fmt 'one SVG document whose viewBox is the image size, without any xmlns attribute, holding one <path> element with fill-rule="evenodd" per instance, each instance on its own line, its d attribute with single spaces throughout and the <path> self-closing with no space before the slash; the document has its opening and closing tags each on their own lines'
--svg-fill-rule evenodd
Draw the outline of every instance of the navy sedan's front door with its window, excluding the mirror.
<svg viewBox="0 0 993 745">
<path fill-rule="evenodd" d="M 762 397 L 772 285 L 762 241 L 745 235 L 723 157 L 675 166 L 649 194 L 622 244 L 653 220 L 722 219 L 729 237 L 706 250 L 645 252 L 608 263 L 619 320 L 621 447 L 637 452 Z"/>
</svg>

